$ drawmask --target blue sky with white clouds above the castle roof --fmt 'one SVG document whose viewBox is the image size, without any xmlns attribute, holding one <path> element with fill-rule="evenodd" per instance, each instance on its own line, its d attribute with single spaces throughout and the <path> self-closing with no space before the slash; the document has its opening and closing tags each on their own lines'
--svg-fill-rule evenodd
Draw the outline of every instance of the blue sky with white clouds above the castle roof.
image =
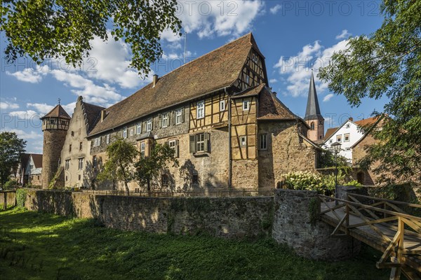
<svg viewBox="0 0 421 280">
<path fill-rule="evenodd" d="M 331 54 L 346 46 L 349 36 L 370 34 L 382 24 L 380 1 L 180 1 L 178 16 L 187 31 L 187 60 L 199 57 L 248 32 L 266 57 L 269 85 L 298 116 L 305 113 L 310 68 L 327 64 Z M 5 48 L 4 34 L 0 38 Z M 86 102 L 109 106 L 150 81 L 128 68 L 130 52 L 121 42 L 95 39 L 82 69 L 62 61 L 36 69 L 28 59 L 10 65 L 1 61 L 1 131 L 14 131 L 27 140 L 27 151 L 41 153 L 39 117 L 61 99 L 71 114 L 78 95 Z M 162 76 L 182 64 L 184 38 L 162 35 L 165 51 L 153 73 Z M 2 52 L 4 56 L 4 52 Z M 365 99 L 351 108 L 343 96 L 331 94 L 316 78 L 325 129 L 352 116 L 368 118 L 387 99 Z"/>
</svg>

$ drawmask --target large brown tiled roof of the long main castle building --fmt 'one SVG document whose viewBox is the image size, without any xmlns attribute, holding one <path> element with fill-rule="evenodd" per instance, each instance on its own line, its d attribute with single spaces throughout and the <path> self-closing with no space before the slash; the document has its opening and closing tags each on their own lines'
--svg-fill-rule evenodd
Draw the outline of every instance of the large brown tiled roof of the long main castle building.
<svg viewBox="0 0 421 280">
<path fill-rule="evenodd" d="M 91 135 L 147 116 L 189 99 L 232 85 L 241 73 L 252 46 L 253 35 L 247 34 L 159 78 L 135 94 L 109 107 L 102 122 Z"/>
</svg>

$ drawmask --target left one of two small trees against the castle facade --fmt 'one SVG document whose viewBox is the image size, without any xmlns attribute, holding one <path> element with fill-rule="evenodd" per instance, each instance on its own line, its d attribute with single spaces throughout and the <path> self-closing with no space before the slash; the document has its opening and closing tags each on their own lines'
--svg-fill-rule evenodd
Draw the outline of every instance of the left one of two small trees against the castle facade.
<svg viewBox="0 0 421 280">
<path fill-rule="evenodd" d="M 138 150 L 123 139 L 116 139 L 107 147 L 107 155 L 108 159 L 98 174 L 98 181 L 123 181 L 128 193 L 128 183 L 134 178 L 133 162 L 139 155 Z"/>
</svg>

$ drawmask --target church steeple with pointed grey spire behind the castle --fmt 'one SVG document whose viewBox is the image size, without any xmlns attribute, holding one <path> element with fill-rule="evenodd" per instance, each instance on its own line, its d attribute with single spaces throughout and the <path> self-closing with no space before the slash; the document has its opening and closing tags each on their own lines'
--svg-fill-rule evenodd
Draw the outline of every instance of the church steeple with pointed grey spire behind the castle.
<svg viewBox="0 0 421 280">
<path fill-rule="evenodd" d="M 318 141 L 324 137 L 324 118 L 320 113 L 319 99 L 317 99 L 316 84 L 314 83 L 314 75 L 310 78 L 309 96 L 307 97 L 307 108 L 305 110 L 305 122 L 310 129 L 307 137 L 312 141 Z"/>
</svg>

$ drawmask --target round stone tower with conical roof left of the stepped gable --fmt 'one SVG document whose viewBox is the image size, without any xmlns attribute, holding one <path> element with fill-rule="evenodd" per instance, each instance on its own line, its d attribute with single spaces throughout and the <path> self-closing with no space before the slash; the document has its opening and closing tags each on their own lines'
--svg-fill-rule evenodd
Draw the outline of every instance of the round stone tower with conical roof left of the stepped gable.
<svg viewBox="0 0 421 280">
<path fill-rule="evenodd" d="M 65 143 L 70 117 L 60 103 L 41 118 L 44 132 L 42 157 L 42 188 L 48 188 L 58 170 L 60 154 Z"/>
</svg>

